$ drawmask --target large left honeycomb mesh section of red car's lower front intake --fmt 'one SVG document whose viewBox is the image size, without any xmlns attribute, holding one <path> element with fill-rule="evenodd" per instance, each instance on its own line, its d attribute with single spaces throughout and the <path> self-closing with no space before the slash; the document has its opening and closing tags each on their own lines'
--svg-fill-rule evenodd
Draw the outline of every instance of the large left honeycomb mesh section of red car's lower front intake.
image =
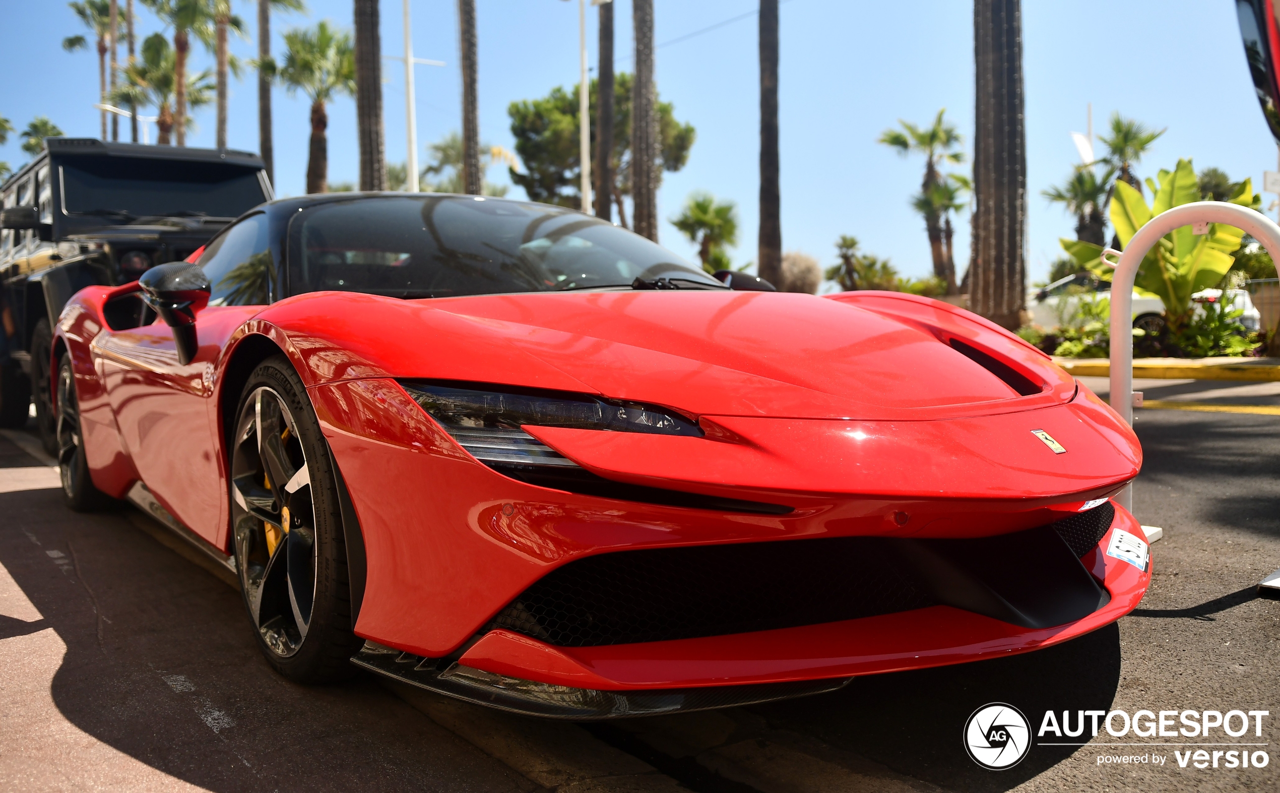
<svg viewBox="0 0 1280 793">
<path fill-rule="evenodd" d="M 596 647 L 851 620 L 933 605 L 876 537 L 602 553 L 522 592 L 494 620 L 561 647 Z"/>
</svg>

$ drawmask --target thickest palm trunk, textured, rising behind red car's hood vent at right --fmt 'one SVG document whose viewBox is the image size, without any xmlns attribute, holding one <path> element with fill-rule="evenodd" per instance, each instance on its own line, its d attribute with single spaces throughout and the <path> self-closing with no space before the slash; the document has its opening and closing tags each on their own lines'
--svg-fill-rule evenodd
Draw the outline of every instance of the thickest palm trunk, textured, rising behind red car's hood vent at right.
<svg viewBox="0 0 1280 793">
<path fill-rule="evenodd" d="M 1027 234 L 1020 0 L 975 0 L 973 27 L 977 132 L 969 309 L 1016 329 L 1024 301 Z"/>
</svg>

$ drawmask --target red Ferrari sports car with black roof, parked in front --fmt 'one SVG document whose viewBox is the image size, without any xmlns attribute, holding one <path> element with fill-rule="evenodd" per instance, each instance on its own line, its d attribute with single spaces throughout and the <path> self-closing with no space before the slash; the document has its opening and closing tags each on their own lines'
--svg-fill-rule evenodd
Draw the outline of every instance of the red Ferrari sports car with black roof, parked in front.
<svg viewBox="0 0 1280 793">
<path fill-rule="evenodd" d="M 339 193 L 90 287 L 73 509 L 236 571 L 280 674 L 543 716 L 840 688 L 1078 637 L 1151 579 L 1130 428 L 947 304 L 705 275 L 576 211 Z"/>
</svg>

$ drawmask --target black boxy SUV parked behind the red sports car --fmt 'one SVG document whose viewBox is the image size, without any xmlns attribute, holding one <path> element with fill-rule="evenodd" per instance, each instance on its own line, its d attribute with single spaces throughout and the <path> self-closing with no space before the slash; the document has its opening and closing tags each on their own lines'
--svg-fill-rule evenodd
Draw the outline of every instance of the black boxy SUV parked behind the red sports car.
<svg viewBox="0 0 1280 793">
<path fill-rule="evenodd" d="M 45 146 L 0 186 L 0 427 L 23 425 L 35 396 L 55 454 L 49 360 L 67 300 L 186 259 L 273 196 L 262 160 L 244 151 L 72 137 Z"/>
</svg>

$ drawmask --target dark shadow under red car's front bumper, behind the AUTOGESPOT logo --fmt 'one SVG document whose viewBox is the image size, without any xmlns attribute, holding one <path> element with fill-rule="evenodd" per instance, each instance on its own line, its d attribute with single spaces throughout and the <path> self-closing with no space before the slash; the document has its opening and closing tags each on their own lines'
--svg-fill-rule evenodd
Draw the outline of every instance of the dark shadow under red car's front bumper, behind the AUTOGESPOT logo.
<svg viewBox="0 0 1280 793">
<path fill-rule="evenodd" d="M 1079 710 L 1111 710 L 1119 685 L 1120 632 L 1111 624 L 1047 650 L 856 678 L 835 694 L 751 710 L 771 725 L 804 728 L 838 749 L 899 774 L 956 790 L 1009 790 L 1079 748 L 1033 744 L 1016 766 L 988 771 L 970 760 L 965 748 L 964 728 L 974 711 L 995 702 L 1012 705 L 1034 734 L 1050 710 L 1059 719 L 1069 710 L 1073 721 Z"/>
</svg>

